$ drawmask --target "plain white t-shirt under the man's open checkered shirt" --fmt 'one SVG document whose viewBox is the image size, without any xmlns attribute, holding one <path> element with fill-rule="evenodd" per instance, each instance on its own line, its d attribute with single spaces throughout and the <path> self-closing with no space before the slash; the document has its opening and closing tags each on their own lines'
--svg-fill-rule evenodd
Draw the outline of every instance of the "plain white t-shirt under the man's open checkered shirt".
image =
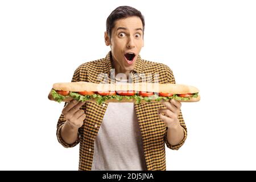
<svg viewBox="0 0 256 182">
<path fill-rule="evenodd" d="M 133 102 L 108 104 L 94 141 L 94 170 L 147 170 Z"/>
</svg>

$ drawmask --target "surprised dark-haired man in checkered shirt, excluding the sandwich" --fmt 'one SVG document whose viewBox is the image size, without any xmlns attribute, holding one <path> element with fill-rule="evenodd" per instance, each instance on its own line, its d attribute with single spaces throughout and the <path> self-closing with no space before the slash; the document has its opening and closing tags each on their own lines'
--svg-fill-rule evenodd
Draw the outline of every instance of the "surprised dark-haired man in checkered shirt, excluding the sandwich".
<svg viewBox="0 0 256 182">
<path fill-rule="evenodd" d="M 111 51 L 105 59 L 80 65 L 72 81 L 99 83 L 102 76 L 113 76 L 114 69 L 115 82 L 127 82 L 128 78 L 141 82 L 157 74 L 160 84 L 175 83 L 170 68 L 139 56 L 143 33 L 141 12 L 129 6 L 117 7 L 106 21 L 105 44 Z M 125 79 L 119 80 L 121 73 Z M 166 170 L 164 143 L 177 150 L 187 137 L 180 106 L 176 100 L 102 105 L 73 100 L 65 103 L 57 138 L 64 147 L 80 142 L 79 170 Z"/>
</svg>

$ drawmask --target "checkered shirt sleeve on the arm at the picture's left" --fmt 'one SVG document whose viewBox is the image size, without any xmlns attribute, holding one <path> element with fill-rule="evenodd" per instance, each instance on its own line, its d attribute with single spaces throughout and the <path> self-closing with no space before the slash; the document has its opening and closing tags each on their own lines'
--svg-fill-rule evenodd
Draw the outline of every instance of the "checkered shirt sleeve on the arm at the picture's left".
<svg viewBox="0 0 256 182">
<path fill-rule="evenodd" d="M 80 68 L 80 67 L 79 67 Z M 72 77 L 72 81 L 71 82 L 76 82 L 76 81 L 79 81 L 80 78 L 79 78 L 79 75 L 80 75 L 80 69 L 77 68 L 75 73 L 73 74 L 73 77 Z M 65 105 L 64 107 L 68 104 L 68 102 L 65 102 Z M 77 139 L 74 143 L 72 144 L 68 144 L 66 143 L 63 138 L 61 138 L 61 128 L 63 127 L 64 123 L 66 122 L 66 120 L 64 119 L 64 115 L 61 114 L 60 117 L 59 117 L 59 120 L 57 122 L 57 131 L 56 131 L 56 135 L 57 135 L 57 140 L 59 141 L 59 143 L 65 147 L 65 148 L 69 148 L 69 147 L 75 147 L 77 144 L 79 144 L 80 142 L 80 130 L 78 131 L 77 133 Z"/>
</svg>

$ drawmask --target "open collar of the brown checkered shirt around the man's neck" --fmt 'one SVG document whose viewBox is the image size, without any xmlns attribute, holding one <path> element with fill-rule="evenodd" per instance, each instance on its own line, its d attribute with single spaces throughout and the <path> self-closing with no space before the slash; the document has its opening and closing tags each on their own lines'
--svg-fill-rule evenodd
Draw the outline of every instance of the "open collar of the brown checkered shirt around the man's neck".
<svg viewBox="0 0 256 182">
<path fill-rule="evenodd" d="M 105 70 L 104 72 L 108 74 L 108 76 L 110 77 L 110 70 L 114 69 L 113 65 L 112 65 L 112 53 L 111 51 L 109 51 L 108 55 L 106 55 L 104 61 L 105 61 Z M 143 61 L 141 59 L 141 56 L 138 55 L 136 63 L 135 63 L 135 68 L 134 70 L 131 72 L 133 74 L 137 73 L 139 77 L 141 77 L 141 73 L 143 73 Z"/>
</svg>

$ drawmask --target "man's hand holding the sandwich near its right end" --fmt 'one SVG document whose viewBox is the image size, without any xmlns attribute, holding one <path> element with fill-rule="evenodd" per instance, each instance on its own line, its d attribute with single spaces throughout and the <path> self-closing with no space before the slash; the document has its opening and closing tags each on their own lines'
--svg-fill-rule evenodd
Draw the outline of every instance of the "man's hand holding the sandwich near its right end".
<svg viewBox="0 0 256 182">
<path fill-rule="evenodd" d="M 180 114 L 181 103 L 174 99 L 161 102 L 167 109 L 159 109 L 159 117 L 164 121 L 168 129 L 176 129 L 180 126 L 178 116 Z M 165 115 L 162 115 L 165 114 Z"/>
</svg>

